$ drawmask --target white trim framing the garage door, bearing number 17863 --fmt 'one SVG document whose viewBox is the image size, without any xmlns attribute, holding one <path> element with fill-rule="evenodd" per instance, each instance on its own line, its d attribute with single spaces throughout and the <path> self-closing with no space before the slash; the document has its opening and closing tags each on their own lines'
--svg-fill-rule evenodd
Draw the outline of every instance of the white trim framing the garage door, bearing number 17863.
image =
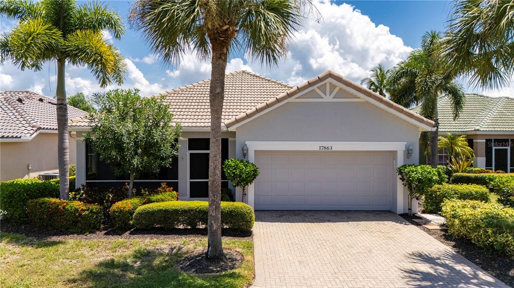
<svg viewBox="0 0 514 288">
<path fill-rule="evenodd" d="M 395 167 L 403 165 L 407 142 L 383 141 L 245 141 L 248 160 L 255 162 L 255 151 L 320 151 L 320 146 L 332 146 L 331 151 L 396 151 Z M 323 152 L 325 150 L 321 150 Z M 255 209 L 254 183 L 248 186 L 246 201 Z M 393 211 L 403 213 L 403 183 L 397 177 L 396 207 Z"/>
</svg>

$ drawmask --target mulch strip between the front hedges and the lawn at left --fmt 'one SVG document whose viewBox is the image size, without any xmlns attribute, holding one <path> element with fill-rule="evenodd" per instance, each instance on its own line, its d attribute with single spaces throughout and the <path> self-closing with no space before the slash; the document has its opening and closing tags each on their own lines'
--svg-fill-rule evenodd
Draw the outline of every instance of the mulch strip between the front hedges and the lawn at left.
<svg viewBox="0 0 514 288">
<path fill-rule="evenodd" d="M 60 241 L 60 240 L 94 240 L 94 239 L 177 239 L 183 237 L 204 238 L 207 236 L 207 229 L 172 229 L 155 228 L 152 230 L 116 230 L 110 225 L 104 225 L 100 231 L 89 234 L 67 234 L 48 229 L 41 229 L 29 224 L 19 224 L 8 220 L 0 222 L 0 232 L 18 233 L 36 239 Z M 222 230 L 223 239 L 252 240 L 251 232 L 240 232 L 229 229 Z"/>
</svg>

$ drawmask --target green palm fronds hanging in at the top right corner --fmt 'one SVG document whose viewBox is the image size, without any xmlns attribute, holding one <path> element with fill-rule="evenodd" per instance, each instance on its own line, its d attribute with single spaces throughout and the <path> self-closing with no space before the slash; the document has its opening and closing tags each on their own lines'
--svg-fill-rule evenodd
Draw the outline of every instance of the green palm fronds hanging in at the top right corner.
<svg viewBox="0 0 514 288">
<path fill-rule="evenodd" d="M 442 51 L 450 69 L 475 86 L 508 84 L 514 73 L 514 1 L 458 1 L 448 23 Z"/>
</svg>

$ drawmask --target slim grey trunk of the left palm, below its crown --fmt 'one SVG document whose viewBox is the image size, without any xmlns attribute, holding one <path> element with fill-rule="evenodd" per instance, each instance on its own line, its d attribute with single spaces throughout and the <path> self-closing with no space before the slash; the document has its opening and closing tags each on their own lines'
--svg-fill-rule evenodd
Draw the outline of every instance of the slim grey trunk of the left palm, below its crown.
<svg viewBox="0 0 514 288">
<path fill-rule="evenodd" d="M 59 167 L 60 198 L 69 200 L 69 142 L 68 142 L 68 106 L 66 105 L 64 59 L 57 60 L 57 157 Z"/>
</svg>

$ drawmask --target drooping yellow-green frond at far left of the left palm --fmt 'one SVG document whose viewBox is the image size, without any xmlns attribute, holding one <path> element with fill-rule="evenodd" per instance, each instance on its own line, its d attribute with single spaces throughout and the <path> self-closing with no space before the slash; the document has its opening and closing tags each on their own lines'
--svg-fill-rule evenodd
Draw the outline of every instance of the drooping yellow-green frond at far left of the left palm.
<svg viewBox="0 0 514 288">
<path fill-rule="evenodd" d="M 56 58 L 62 47 L 61 31 L 41 17 L 29 19 L 14 27 L 1 40 L 2 60 L 11 58 L 14 65 L 41 70 L 43 62 Z"/>
</svg>

